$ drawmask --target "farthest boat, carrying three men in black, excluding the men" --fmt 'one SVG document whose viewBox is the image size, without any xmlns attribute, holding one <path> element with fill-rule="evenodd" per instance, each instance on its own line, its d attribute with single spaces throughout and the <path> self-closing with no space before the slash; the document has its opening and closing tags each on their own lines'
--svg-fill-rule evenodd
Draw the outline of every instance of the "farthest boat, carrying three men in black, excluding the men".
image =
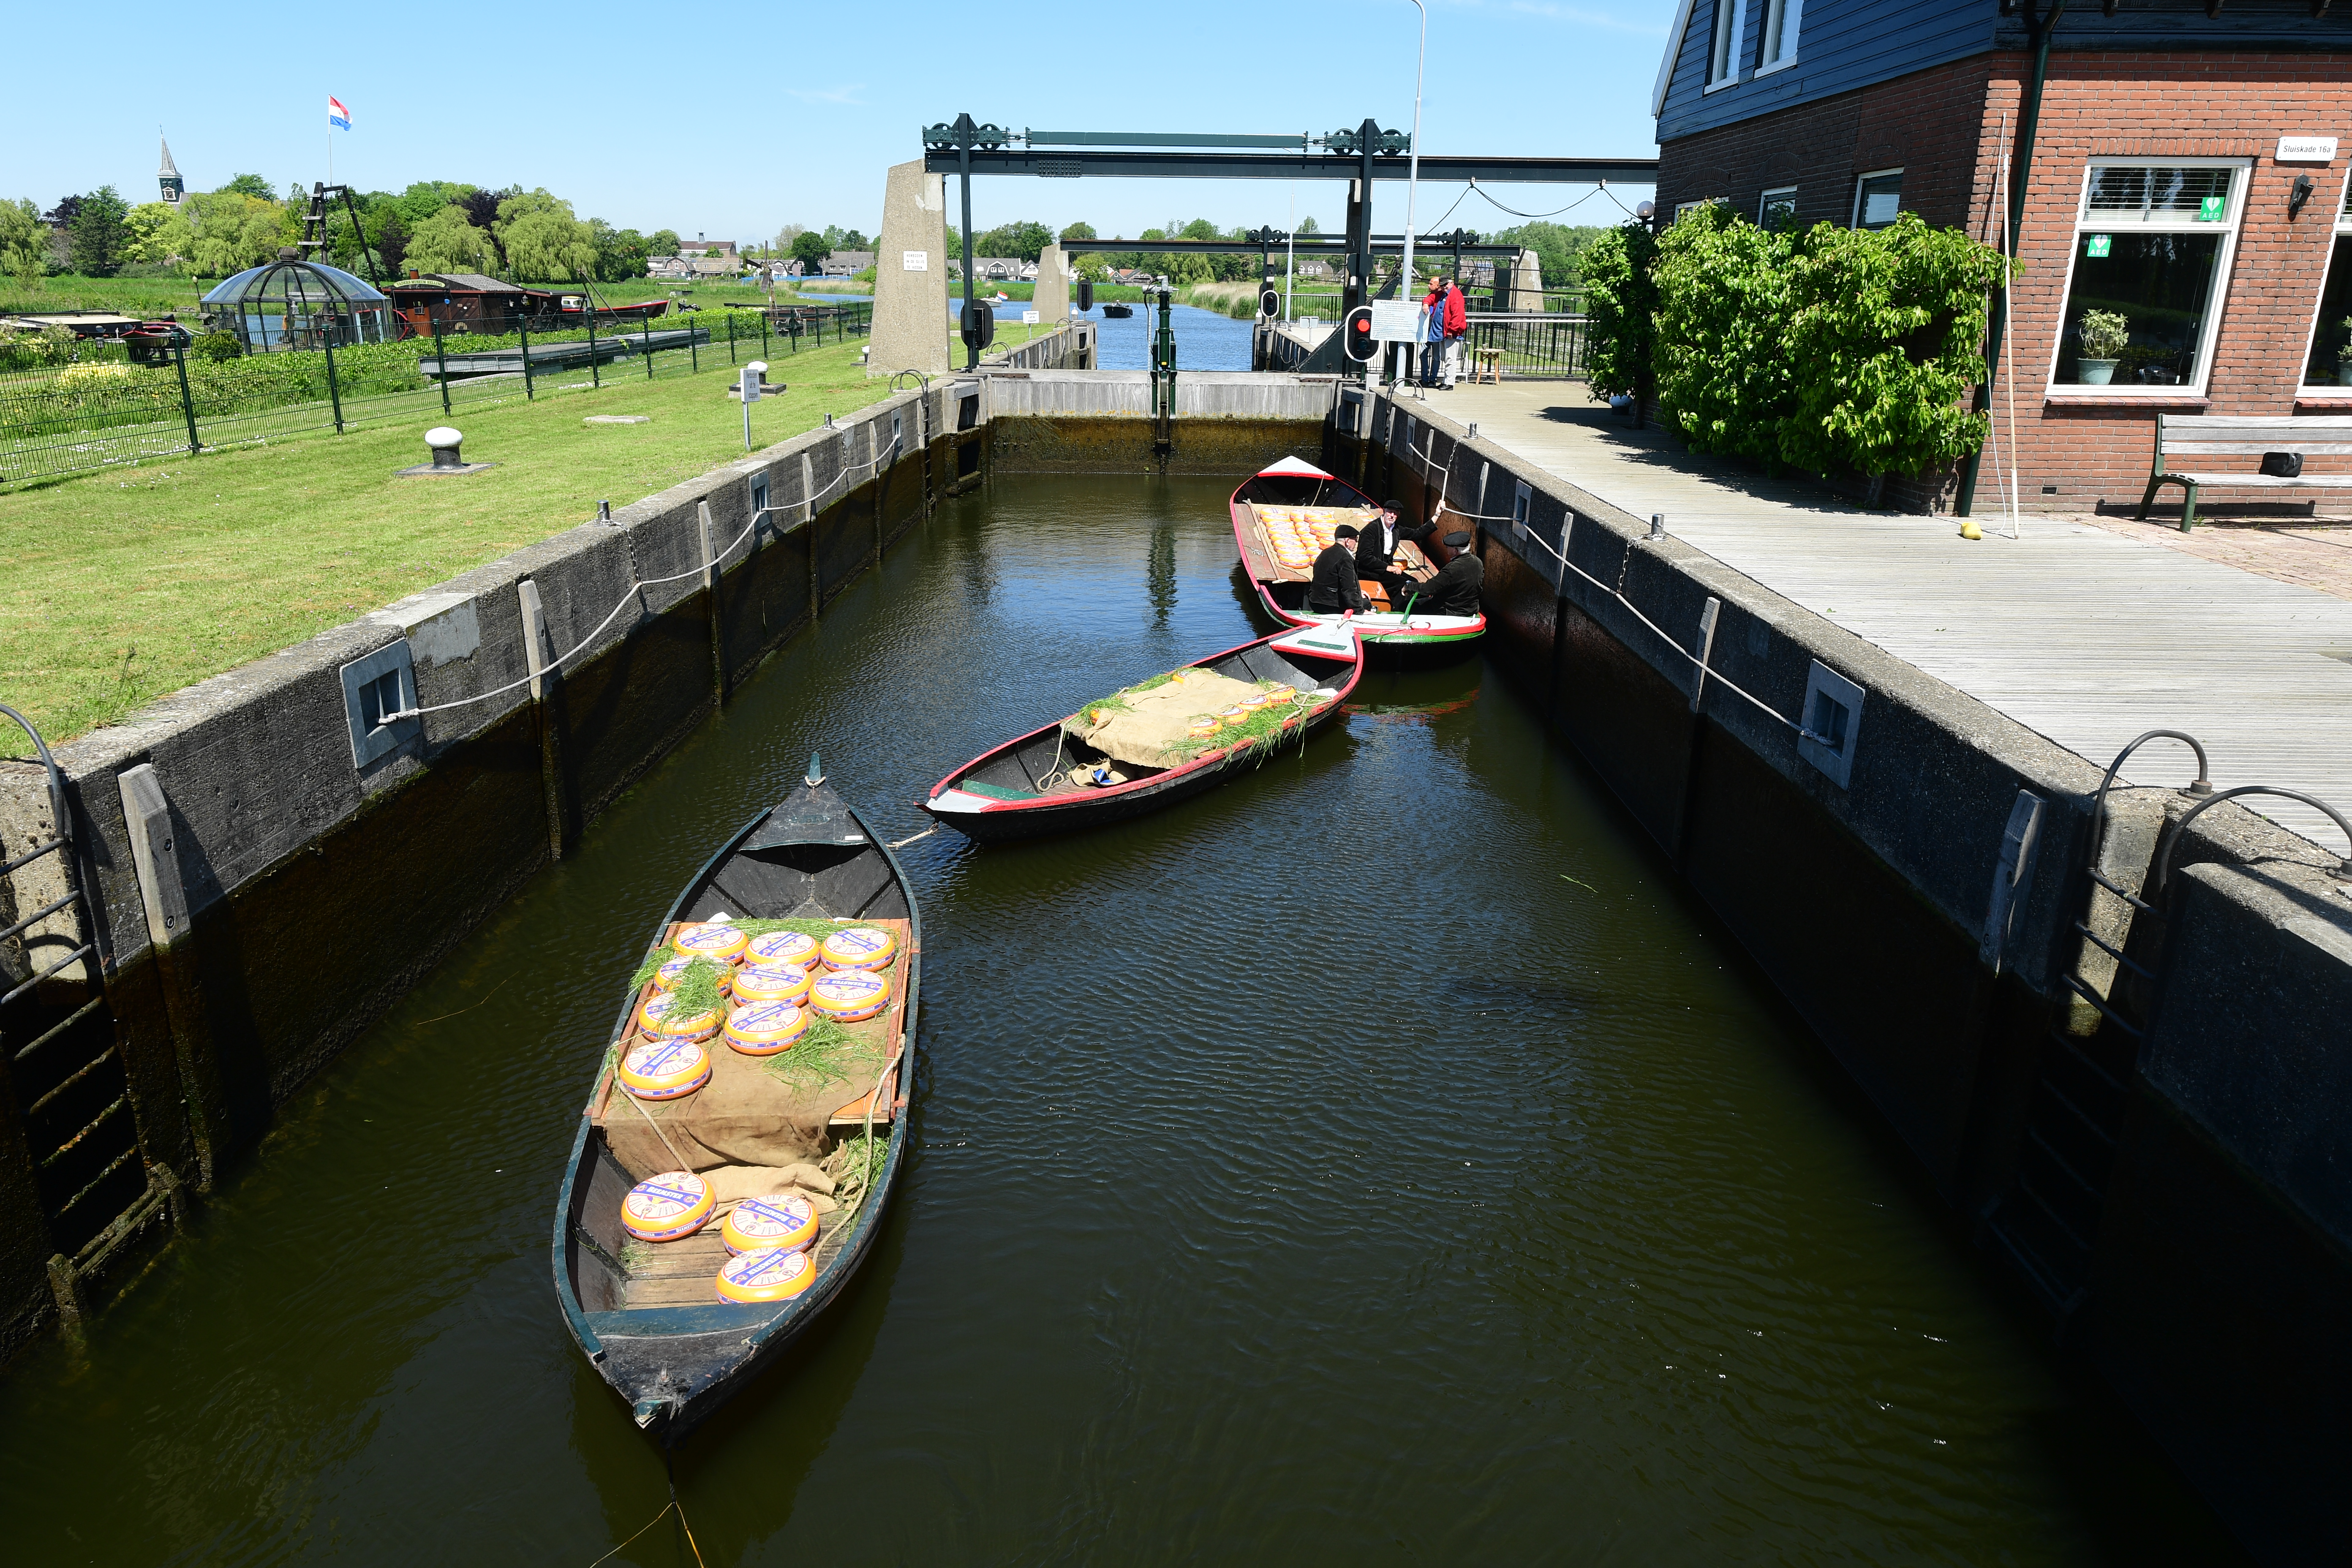
<svg viewBox="0 0 2352 1568">
<path fill-rule="evenodd" d="M 1312 548 L 1305 555 L 1296 545 L 1284 550 L 1282 534 L 1298 538 L 1294 529 L 1308 529 L 1310 538 L 1329 541 L 1338 524 L 1367 529 L 1378 515 L 1378 501 L 1355 484 L 1303 458 L 1282 458 L 1232 491 L 1232 543 L 1270 616 L 1287 625 L 1331 625 L 1341 616 L 1317 616 L 1305 607 L 1308 583 L 1315 581 Z M 1416 576 L 1428 576 L 1449 559 L 1454 552 L 1435 538 L 1428 545 L 1397 543 L 1397 562 Z M 1409 611 L 1409 604 L 1390 607 L 1378 583 L 1364 583 L 1364 592 L 1374 599 L 1374 614 L 1355 616 L 1355 625 L 1367 658 L 1461 654 L 1486 630 L 1486 616 L 1432 616 Z"/>
</svg>

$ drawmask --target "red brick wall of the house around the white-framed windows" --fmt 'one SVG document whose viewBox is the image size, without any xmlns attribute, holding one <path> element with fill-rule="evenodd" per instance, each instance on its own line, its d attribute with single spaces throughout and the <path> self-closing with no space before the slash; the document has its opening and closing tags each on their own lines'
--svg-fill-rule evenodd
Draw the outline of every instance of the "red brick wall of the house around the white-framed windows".
<svg viewBox="0 0 2352 1568">
<path fill-rule="evenodd" d="M 1846 223 L 1853 183 L 1867 169 L 1900 165 L 1903 207 L 1929 223 L 1999 237 L 1997 176 L 2004 136 L 2016 134 L 2023 54 L 1980 54 L 1893 82 L 1802 103 L 1740 125 L 1684 136 L 1661 148 L 1658 205 L 1726 195 L 1755 216 L 1757 197 L 1795 183 L 1799 219 Z M 2009 465 L 2011 397 L 2020 501 L 2042 510 L 2136 508 L 2154 451 L 2157 409 L 2176 414 L 2352 414 L 2352 388 L 2298 400 L 2319 289 L 2345 200 L 2345 153 L 2328 167 L 2277 165 L 2284 134 L 2343 134 L 2352 122 L 2352 56 L 2345 54 L 2053 54 L 2025 202 L 2023 275 L 2011 301 L 2004 362 L 2013 386 L 1994 381 L 1999 465 Z M 2065 402 L 2046 397 L 2074 252 L 2074 212 L 2091 158 L 2249 158 L 2253 172 L 2237 256 L 2220 296 L 2206 393 Z M 2317 190 L 2286 219 L 2296 174 Z M 2251 470 L 2256 458 L 2199 458 L 2199 468 Z M 2352 468 L 2312 458 L 2307 470 Z M 1978 510 L 1999 505 L 1999 470 L 1987 451 Z M 2171 491 L 2166 508 L 2178 508 Z M 1915 480 L 1891 489 L 1898 505 L 1931 508 L 1950 484 Z M 2277 494 L 2211 489 L 2201 505 L 2277 503 Z"/>
</svg>

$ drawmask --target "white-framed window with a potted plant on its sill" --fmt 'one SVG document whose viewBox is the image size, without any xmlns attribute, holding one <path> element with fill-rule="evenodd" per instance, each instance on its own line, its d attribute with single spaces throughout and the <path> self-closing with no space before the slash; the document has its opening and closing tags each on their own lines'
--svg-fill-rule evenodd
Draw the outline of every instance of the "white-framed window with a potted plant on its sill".
<svg viewBox="0 0 2352 1568">
<path fill-rule="evenodd" d="M 2201 388 L 2246 165 L 2093 162 L 2074 221 L 2053 388 Z"/>
</svg>

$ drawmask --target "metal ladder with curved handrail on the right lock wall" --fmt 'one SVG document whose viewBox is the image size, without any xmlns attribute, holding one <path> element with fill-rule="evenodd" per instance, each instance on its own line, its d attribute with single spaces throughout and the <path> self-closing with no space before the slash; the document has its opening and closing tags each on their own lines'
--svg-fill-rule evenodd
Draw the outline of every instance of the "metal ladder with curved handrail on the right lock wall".
<svg viewBox="0 0 2352 1568">
<path fill-rule="evenodd" d="M 2107 790 L 2140 745 L 2154 738 L 2185 741 L 2197 752 L 2197 778 L 2187 795 L 2213 795 L 2206 778 L 2204 748 L 2176 729 L 2152 729 L 2126 745 L 2098 785 L 2091 804 L 2091 839 L 2082 863 L 2082 898 L 2074 907 L 2074 936 L 2082 943 L 2067 961 L 2060 983 L 2067 1006 L 2051 1016 L 2049 1041 L 2034 1074 L 2025 1114 L 2025 1138 L 2018 1150 L 2018 1178 L 1985 1211 L 1985 1227 L 2018 1265 L 2034 1293 L 2058 1319 L 2058 1333 L 2091 1293 L 2091 1248 L 2098 1241 L 2107 1180 L 2114 1173 L 2114 1150 L 2124 1133 L 2129 1084 L 2140 1060 L 2147 1032 L 2145 1009 L 2157 971 L 2124 952 L 2143 919 L 2161 922 L 2164 912 L 2133 889 L 2100 870 L 2107 837 Z M 2157 835 L 2161 839 L 2161 835 Z M 2122 919 L 2100 936 L 2098 893 L 2122 900 Z M 2110 936 L 2114 940 L 2110 940 Z M 2140 940 L 2143 954 L 2161 952 L 2161 926 Z M 2105 985 L 2084 973 L 2103 954 L 2114 969 Z"/>
</svg>

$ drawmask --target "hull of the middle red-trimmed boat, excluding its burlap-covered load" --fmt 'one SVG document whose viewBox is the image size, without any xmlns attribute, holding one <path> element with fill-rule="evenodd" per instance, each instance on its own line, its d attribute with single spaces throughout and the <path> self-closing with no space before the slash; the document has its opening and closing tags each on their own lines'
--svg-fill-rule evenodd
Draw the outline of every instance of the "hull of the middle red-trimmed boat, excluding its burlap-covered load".
<svg viewBox="0 0 2352 1568">
<path fill-rule="evenodd" d="M 1272 748 L 1303 745 L 1338 715 L 1364 672 L 1364 661 L 1352 628 L 1312 625 L 1244 642 L 1185 670 L 1209 670 L 1251 684 L 1277 682 L 1301 693 L 1298 708 L 1282 715 L 1279 738 L 1223 748 L 1209 741 L 1209 750 L 1176 766 L 1115 762 L 1063 729 L 1063 722 L 1054 722 L 955 769 L 931 785 L 922 809 L 983 844 L 1098 827 L 1157 811 L 1223 783 L 1235 769 L 1254 764 Z M 1094 769 L 1103 766 L 1124 780 L 1087 783 Z"/>
</svg>

